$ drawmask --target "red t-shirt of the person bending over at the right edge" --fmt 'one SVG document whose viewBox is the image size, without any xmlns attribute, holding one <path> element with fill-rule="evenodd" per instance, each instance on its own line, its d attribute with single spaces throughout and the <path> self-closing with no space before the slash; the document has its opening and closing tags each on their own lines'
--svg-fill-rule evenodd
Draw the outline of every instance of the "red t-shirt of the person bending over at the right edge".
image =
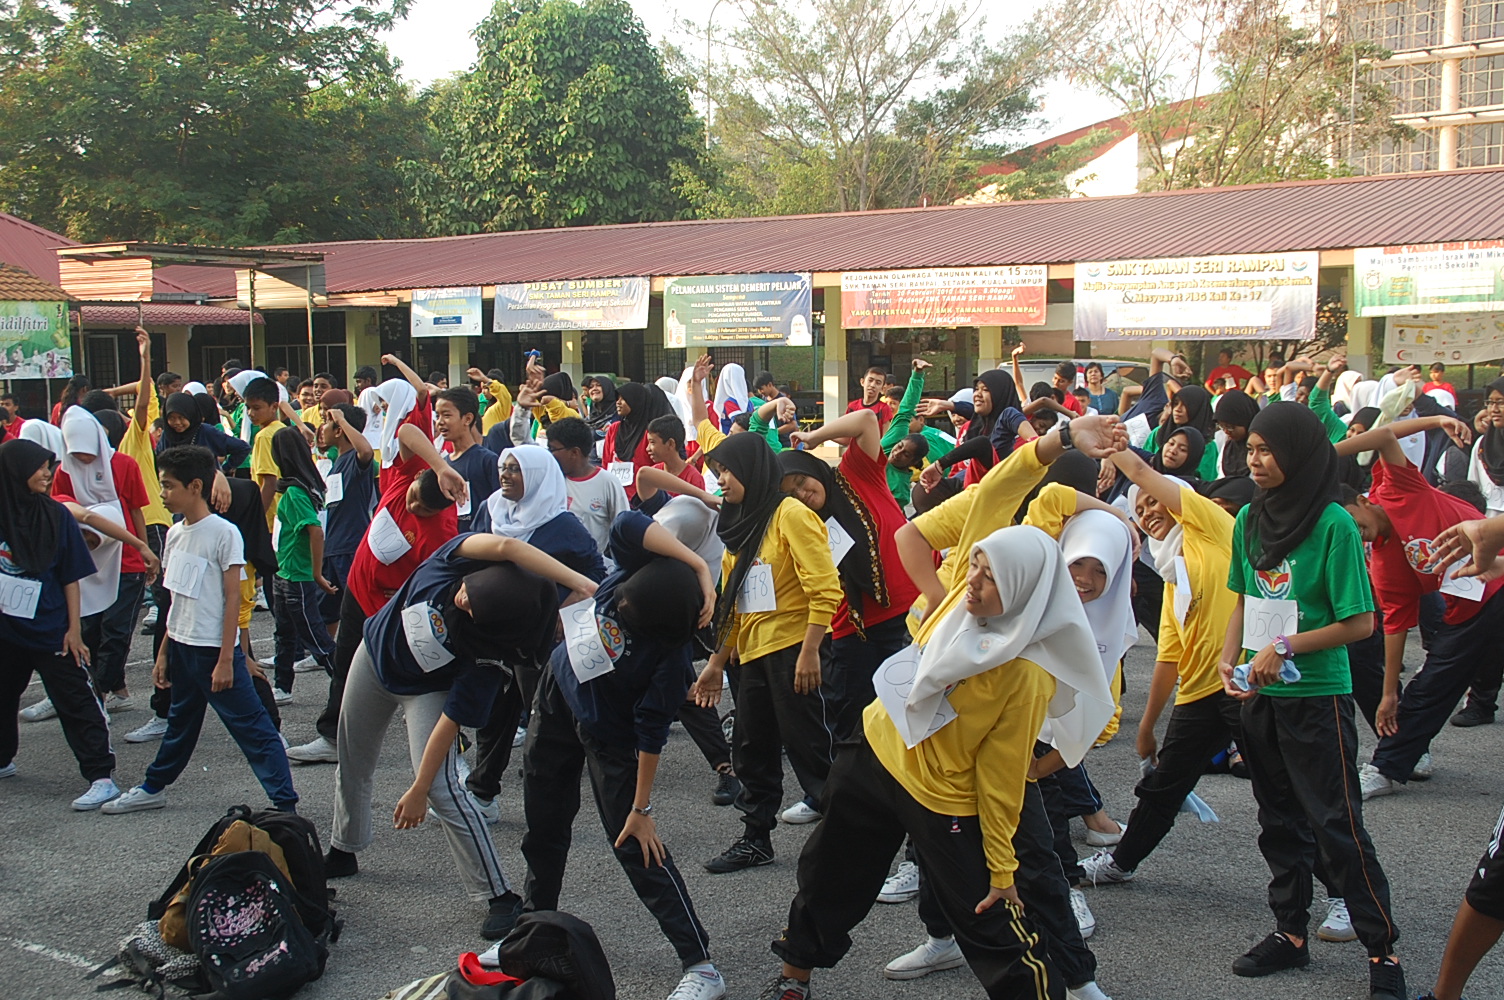
<svg viewBox="0 0 1504 1000">
<path fill-rule="evenodd" d="M 1384 611 L 1384 632 L 1397 635 L 1420 621 L 1420 595 L 1432 594 L 1441 586 L 1441 576 L 1420 568 L 1430 561 L 1432 538 L 1459 522 L 1477 520 L 1481 514 L 1472 504 L 1435 489 L 1408 462 L 1375 462 L 1369 501 L 1382 507 L 1394 526 L 1387 538 L 1373 543 L 1369 568 L 1373 574 L 1373 594 Z M 1504 577 L 1486 583 L 1483 600 L 1492 598 L 1501 586 Z M 1468 621 L 1483 609 L 1481 602 L 1451 594 L 1442 594 L 1442 598 L 1447 602 L 1447 624 Z"/>
</svg>

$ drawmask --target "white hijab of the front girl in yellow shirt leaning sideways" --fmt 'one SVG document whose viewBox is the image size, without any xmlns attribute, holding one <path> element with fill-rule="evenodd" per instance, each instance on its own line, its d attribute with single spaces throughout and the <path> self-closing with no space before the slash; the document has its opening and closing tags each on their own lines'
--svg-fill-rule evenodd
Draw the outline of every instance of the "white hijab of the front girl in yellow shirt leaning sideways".
<svg viewBox="0 0 1504 1000">
<path fill-rule="evenodd" d="M 1116 707 L 1065 555 L 1054 538 L 1027 525 L 994 531 L 975 550 L 991 562 L 1003 614 L 976 618 L 966 611 L 966 585 L 951 591 L 935 612 L 904 702 L 910 731 L 929 726 L 954 684 L 1021 657 L 1056 680 L 1047 714 L 1054 720 L 1056 749 L 1074 767 Z"/>
</svg>

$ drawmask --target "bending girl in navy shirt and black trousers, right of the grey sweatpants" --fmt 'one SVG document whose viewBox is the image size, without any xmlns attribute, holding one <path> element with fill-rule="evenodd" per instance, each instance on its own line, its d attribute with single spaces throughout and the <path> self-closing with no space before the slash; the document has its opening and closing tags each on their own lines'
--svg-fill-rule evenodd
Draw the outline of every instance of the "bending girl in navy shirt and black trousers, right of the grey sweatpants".
<svg viewBox="0 0 1504 1000">
<path fill-rule="evenodd" d="M 611 672 L 581 680 L 561 644 L 532 704 L 522 764 L 522 910 L 559 908 L 588 765 L 606 839 L 683 964 L 672 1000 L 717 1000 L 726 986 L 710 961 L 710 937 L 659 839 L 653 811 L 659 755 L 689 692 L 690 638 L 710 624 L 716 588 L 705 561 L 639 511 L 617 519 L 611 549 L 618 568 L 596 591 Z"/>
</svg>

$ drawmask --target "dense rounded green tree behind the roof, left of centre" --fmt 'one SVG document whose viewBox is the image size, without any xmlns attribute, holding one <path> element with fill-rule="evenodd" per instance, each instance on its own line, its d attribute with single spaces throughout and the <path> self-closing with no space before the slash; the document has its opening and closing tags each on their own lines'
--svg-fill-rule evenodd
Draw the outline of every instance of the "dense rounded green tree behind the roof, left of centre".
<svg viewBox="0 0 1504 1000">
<path fill-rule="evenodd" d="M 686 218 L 701 122 L 624 0 L 496 3 L 403 170 L 430 233 Z"/>
</svg>

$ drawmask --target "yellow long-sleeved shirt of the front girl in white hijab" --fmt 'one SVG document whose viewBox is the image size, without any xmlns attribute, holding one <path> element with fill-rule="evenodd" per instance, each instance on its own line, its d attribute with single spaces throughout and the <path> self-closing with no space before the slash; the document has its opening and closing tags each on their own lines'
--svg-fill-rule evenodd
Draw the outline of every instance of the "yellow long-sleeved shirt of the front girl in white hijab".
<svg viewBox="0 0 1504 1000">
<path fill-rule="evenodd" d="M 877 759 L 914 800 L 942 817 L 976 817 L 993 886 L 1014 884 L 1014 833 L 1035 738 L 1054 678 L 1029 660 L 970 677 L 948 695 L 957 717 L 914 749 L 904 746 L 881 701 L 862 716 Z"/>
</svg>

